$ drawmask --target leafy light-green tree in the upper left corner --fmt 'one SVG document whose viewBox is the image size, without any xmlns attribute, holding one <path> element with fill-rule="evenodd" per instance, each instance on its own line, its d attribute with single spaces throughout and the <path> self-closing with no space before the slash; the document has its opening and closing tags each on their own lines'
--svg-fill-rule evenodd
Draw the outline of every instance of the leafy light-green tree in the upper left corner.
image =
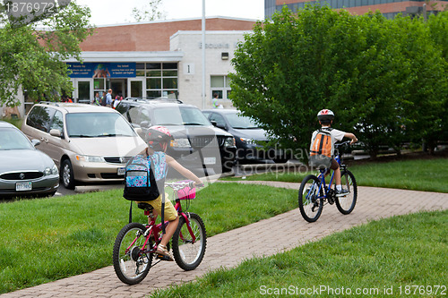
<svg viewBox="0 0 448 298">
<path fill-rule="evenodd" d="M 71 92 L 64 61 L 81 60 L 79 45 L 92 34 L 89 19 L 90 9 L 73 2 L 38 17 L 39 24 L 17 23 L 1 14 L 0 105 L 18 106 L 19 89 L 35 100 L 53 100 Z"/>
</svg>

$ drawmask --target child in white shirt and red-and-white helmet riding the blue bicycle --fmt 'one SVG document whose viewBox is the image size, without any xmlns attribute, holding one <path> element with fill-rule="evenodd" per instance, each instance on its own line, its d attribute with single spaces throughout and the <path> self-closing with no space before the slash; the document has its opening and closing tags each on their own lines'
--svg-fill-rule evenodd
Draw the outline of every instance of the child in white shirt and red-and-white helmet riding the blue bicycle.
<svg viewBox="0 0 448 298">
<path fill-rule="evenodd" d="M 319 113 L 317 114 L 317 119 L 319 120 L 319 123 L 322 125 L 322 127 L 321 127 L 321 130 L 317 130 L 317 131 L 313 132 L 313 135 L 311 137 L 310 152 L 314 151 L 314 148 L 313 148 L 314 139 L 315 139 L 316 135 L 321 131 L 331 134 L 332 148 L 334 148 L 334 143 L 337 140 L 342 140 L 344 137 L 351 139 L 350 144 L 353 144 L 358 141 L 355 134 L 353 134 L 351 132 L 341 132 L 339 130 L 332 129 L 334 113 L 331 110 L 323 109 L 323 110 L 319 111 Z M 342 188 L 342 185 L 340 183 L 340 166 L 339 166 L 339 163 L 334 159 L 333 156 L 331 157 L 331 164 L 329 167 L 330 167 L 330 169 L 332 169 L 334 171 L 334 179 L 335 179 L 335 183 L 336 183 L 336 196 L 342 197 L 342 196 L 347 195 L 349 193 L 349 190 Z M 327 171 L 326 175 L 328 175 L 329 172 L 330 171 Z"/>
</svg>

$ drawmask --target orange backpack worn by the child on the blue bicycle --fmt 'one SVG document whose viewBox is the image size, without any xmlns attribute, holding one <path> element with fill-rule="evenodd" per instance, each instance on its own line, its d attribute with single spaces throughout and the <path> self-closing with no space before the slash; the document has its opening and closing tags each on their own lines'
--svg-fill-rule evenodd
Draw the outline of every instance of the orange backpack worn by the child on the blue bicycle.
<svg viewBox="0 0 448 298">
<path fill-rule="evenodd" d="M 311 140 L 309 163 L 316 167 L 329 167 L 334 152 L 330 130 L 319 130 Z"/>
</svg>

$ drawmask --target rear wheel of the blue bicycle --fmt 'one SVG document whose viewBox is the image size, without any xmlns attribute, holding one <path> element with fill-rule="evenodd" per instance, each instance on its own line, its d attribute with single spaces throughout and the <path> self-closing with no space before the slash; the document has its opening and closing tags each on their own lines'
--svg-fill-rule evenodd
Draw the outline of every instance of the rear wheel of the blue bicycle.
<svg viewBox="0 0 448 298">
<path fill-rule="evenodd" d="M 314 175 L 307 175 L 300 184 L 298 209 L 300 209 L 302 217 L 309 223 L 316 221 L 322 213 L 323 191 L 321 190 L 321 196 L 319 196 L 320 185 L 321 182 Z"/>
</svg>

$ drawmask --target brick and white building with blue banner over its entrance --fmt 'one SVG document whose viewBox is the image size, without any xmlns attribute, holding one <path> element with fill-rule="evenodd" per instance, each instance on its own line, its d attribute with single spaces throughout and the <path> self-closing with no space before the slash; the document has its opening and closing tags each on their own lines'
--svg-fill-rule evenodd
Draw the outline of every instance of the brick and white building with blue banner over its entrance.
<svg viewBox="0 0 448 298">
<path fill-rule="evenodd" d="M 255 21 L 225 17 L 206 19 L 206 103 L 211 94 L 228 100 L 228 72 L 237 42 Z M 99 26 L 81 45 L 83 63 L 68 61 L 73 98 L 87 102 L 96 92 L 113 96 L 159 97 L 177 94 L 202 107 L 202 20 L 150 21 Z"/>
</svg>

